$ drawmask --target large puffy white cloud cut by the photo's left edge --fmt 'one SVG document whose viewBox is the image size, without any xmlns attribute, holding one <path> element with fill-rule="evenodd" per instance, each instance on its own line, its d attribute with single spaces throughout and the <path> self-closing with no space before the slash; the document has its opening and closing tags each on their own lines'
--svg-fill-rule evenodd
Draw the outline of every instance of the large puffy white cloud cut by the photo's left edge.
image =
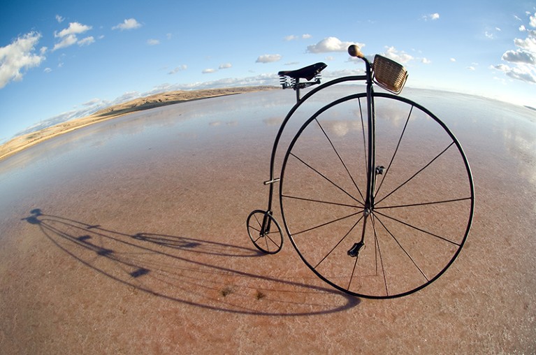
<svg viewBox="0 0 536 355">
<path fill-rule="evenodd" d="M 21 80 L 24 69 L 39 66 L 45 60 L 43 55 L 35 54 L 35 46 L 40 38 L 38 32 L 29 32 L 6 47 L 0 47 L 0 89 L 11 80 Z"/>
</svg>

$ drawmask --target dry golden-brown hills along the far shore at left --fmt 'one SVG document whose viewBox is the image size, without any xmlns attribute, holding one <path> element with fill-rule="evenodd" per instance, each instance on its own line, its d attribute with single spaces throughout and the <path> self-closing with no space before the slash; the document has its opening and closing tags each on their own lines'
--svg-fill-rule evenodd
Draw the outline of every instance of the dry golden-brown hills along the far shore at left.
<svg viewBox="0 0 536 355">
<path fill-rule="evenodd" d="M 38 143 L 44 142 L 45 140 L 55 138 L 61 134 L 75 131 L 76 129 L 81 129 L 91 124 L 96 124 L 99 122 L 108 121 L 109 119 L 129 115 L 130 113 L 136 113 L 142 110 L 150 110 L 151 108 L 174 105 L 175 103 L 210 99 L 218 96 L 245 94 L 247 92 L 266 91 L 278 88 L 279 87 L 274 86 L 226 87 L 219 89 L 163 92 L 161 94 L 141 97 L 139 99 L 134 99 L 125 103 L 119 103 L 117 105 L 104 108 L 103 110 L 99 110 L 89 116 L 71 119 L 66 122 L 47 127 L 45 129 L 40 129 L 38 131 L 12 138 L 3 145 L 0 145 L 0 161 L 11 157 L 18 152 L 22 152 L 29 147 L 33 147 Z"/>
</svg>

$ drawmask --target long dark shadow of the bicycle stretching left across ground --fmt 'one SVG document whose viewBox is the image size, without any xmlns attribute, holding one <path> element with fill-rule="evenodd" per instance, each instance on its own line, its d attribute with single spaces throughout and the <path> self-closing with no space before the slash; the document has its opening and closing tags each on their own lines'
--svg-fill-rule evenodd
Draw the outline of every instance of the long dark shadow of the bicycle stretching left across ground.
<svg viewBox="0 0 536 355">
<path fill-rule="evenodd" d="M 158 233 L 122 233 L 31 210 L 22 220 L 97 273 L 131 291 L 206 310 L 268 316 L 342 312 L 358 298 L 331 288 L 238 270 L 237 259 L 254 249 Z M 135 292 L 136 293 L 136 292 Z"/>
</svg>

